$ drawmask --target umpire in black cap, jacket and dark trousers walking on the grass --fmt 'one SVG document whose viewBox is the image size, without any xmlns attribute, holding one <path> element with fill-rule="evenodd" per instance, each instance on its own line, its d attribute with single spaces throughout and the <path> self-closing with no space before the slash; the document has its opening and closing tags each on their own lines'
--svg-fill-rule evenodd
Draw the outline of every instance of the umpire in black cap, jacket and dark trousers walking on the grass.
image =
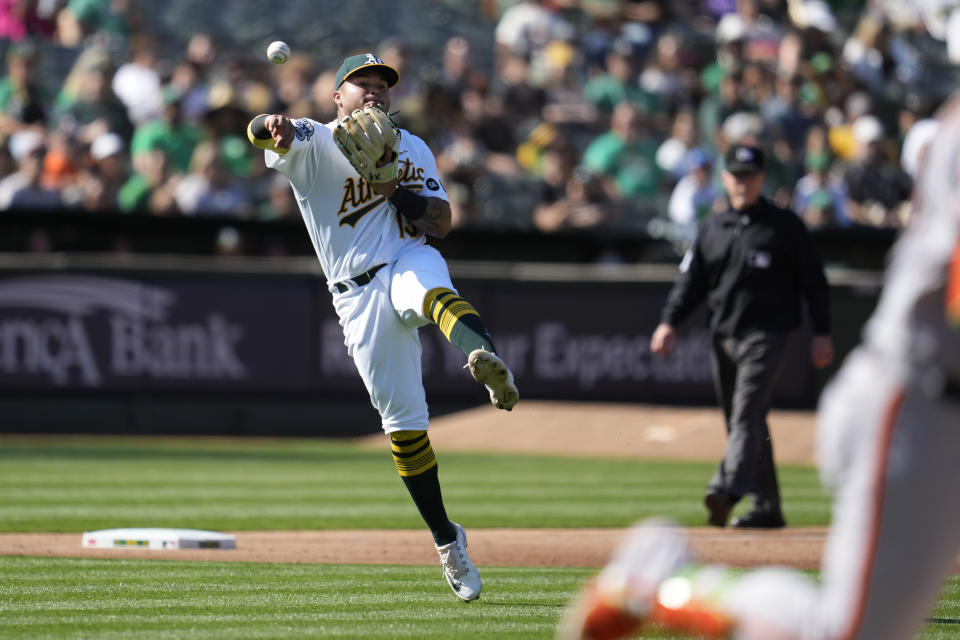
<svg viewBox="0 0 960 640">
<path fill-rule="evenodd" d="M 813 322 L 811 360 L 816 367 L 833 361 L 827 279 L 800 218 L 760 195 L 763 151 L 735 145 L 724 160 L 730 208 L 701 224 L 650 349 L 668 353 L 675 327 L 706 302 L 714 386 L 727 424 L 727 449 L 704 498 L 708 522 L 725 526 L 733 506 L 751 494 L 753 509 L 730 524 L 778 528 L 785 522 L 767 412 L 803 298 Z"/>
</svg>

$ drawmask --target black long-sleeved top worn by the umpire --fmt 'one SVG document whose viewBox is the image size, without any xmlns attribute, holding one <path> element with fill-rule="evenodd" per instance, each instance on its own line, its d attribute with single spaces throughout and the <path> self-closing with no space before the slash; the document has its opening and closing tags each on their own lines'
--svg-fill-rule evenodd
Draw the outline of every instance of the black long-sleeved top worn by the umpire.
<svg viewBox="0 0 960 640">
<path fill-rule="evenodd" d="M 717 335 L 787 331 L 801 323 L 801 297 L 814 334 L 828 334 L 827 279 L 810 234 L 795 213 L 761 196 L 704 220 L 661 321 L 676 327 L 706 300 Z"/>
</svg>

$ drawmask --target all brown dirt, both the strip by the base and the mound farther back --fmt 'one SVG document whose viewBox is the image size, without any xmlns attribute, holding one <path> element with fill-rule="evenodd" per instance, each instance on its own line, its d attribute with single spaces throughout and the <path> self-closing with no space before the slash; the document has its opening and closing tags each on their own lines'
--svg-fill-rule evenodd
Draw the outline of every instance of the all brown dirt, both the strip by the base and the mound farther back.
<svg viewBox="0 0 960 640">
<path fill-rule="evenodd" d="M 811 413 L 775 411 L 769 422 L 779 462 L 813 464 Z M 430 434 L 441 459 L 444 451 L 505 451 L 714 461 L 725 443 L 717 409 L 536 401 L 521 402 L 510 413 L 485 406 L 438 417 Z M 364 446 L 384 446 L 381 434 L 362 440 Z M 576 443 L 576 449 L 571 450 L 569 443 Z M 789 505 L 786 507 L 789 518 Z M 788 527 L 767 532 L 695 527 L 687 532 L 705 561 L 810 569 L 819 563 L 825 529 Z M 622 529 L 475 526 L 468 530 L 471 556 L 486 566 L 599 567 L 623 533 Z M 392 564 L 398 562 L 396 549 L 402 548 L 402 564 L 436 563 L 432 540 L 422 529 L 244 531 L 235 535 L 237 548 L 231 550 L 144 551 L 84 549 L 80 532 L 0 534 L 0 555 Z"/>
</svg>

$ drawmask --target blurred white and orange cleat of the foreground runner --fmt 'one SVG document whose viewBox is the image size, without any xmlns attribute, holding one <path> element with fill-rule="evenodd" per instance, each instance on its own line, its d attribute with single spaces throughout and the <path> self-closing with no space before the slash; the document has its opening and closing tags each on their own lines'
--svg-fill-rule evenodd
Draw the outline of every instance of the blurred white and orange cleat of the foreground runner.
<svg viewBox="0 0 960 640">
<path fill-rule="evenodd" d="M 557 639 L 627 638 L 646 622 L 701 637 L 726 637 L 726 620 L 677 596 L 678 587 L 689 587 L 682 572 L 693 563 L 685 535 L 672 523 L 651 520 L 634 526 L 564 614 Z"/>
</svg>

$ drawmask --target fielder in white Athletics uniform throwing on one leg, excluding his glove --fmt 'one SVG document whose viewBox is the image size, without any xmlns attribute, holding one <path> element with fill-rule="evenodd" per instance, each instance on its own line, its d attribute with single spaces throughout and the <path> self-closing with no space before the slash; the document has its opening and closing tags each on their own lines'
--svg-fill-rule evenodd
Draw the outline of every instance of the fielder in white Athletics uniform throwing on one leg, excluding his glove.
<svg viewBox="0 0 960 640">
<path fill-rule="evenodd" d="M 389 110 L 390 87 L 398 79 L 373 54 L 350 56 L 336 76 L 337 120 L 261 115 L 247 133 L 266 150 L 267 166 L 290 180 L 347 350 L 390 436 L 397 470 L 433 534 L 448 583 L 469 601 L 480 595 L 480 574 L 466 553 L 463 528 L 447 518 L 441 496 L 427 436 L 419 327 L 435 323 L 463 350 L 494 406 L 509 411 L 519 396 L 479 314 L 454 289 L 440 253 L 425 243 L 425 234 L 443 237 L 451 226 L 430 149 L 401 131 L 398 148 L 388 147 L 383 157 L 396 153 L 396 177 L 371 184 L 335 144 L 338 122 L 365 107 Z"/>
</svg>

